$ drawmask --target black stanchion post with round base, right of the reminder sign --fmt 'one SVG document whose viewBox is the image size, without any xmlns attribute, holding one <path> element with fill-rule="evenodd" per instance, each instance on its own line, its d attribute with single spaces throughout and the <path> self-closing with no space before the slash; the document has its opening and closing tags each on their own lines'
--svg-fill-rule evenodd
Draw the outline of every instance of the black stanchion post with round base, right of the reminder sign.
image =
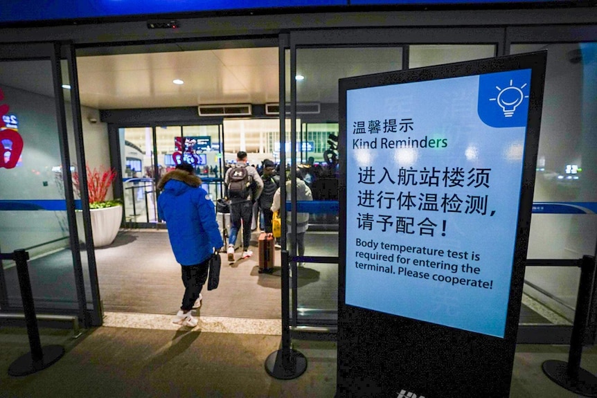
<svg viewBox="0 0 597 398">
<path fill-rule="evenodd" d="M 545 361 L 542 366 L 543 372 L 549 379 L 563 388 L 585 397 L 597 397 L 597 377 L 580 368 L 594 273 L 595 257 L 583 256 L 580 264 L 580 282 L 578 284 L 568 362 L 549 360 Z"/>
</svg>

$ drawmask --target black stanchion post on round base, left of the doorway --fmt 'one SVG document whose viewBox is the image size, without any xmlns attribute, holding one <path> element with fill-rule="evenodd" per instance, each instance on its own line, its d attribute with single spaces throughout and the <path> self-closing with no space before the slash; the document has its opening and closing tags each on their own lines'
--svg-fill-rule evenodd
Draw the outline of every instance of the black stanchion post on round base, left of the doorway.
<svg viewBox="0 0 597 398">
<path fill-rule="evenodd" d="M 8 367 L 8 374 L 10 376 L 25 376 L 26 374 L 32 374 L 48 368 L 48 366 L 62 358 L 64 347 L 62 345 L 46 345 L 46 347 L 42 347 L 42 343 L 39 341 L 39 328 L 37 327 L 35 305 L 33 305 L 33 292 L 31 291 L 27 266 L 29 253 L 23 249 L 19 249 L 14 252 L 13 258 L 17 263 L 19 287 L 21 288 L 21 299 L 23 300 L 25 324 L 27 326 L 27 336 L 31 351 L 11 363 Z"/>
</svg>

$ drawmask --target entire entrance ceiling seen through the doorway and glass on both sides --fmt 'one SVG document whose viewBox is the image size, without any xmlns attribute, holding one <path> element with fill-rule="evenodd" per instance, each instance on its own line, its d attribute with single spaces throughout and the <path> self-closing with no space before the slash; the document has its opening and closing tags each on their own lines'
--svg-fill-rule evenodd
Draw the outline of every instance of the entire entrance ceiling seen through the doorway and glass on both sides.
<svg viewBox="0 0 597 398">
<path fill-rule="evenodd" d="M 226 44 L 226 43 L 224 43 Z M 148 44 L 77 51 L 81 105 L 95 109 L 196 107 L 278 102 L 278 48 L 199 48 L 197 44 Z M 206 45 L 213 45 L 203 43 Z M 235 43 L 229 44 L 233 46 Z M 411 46 L 411 67 L 490 57 L 494 46 Z M 402 68 L 402 48 L 299 48 L 299 102 L 338 102 L 338 79 Z M 63 82 L 68 83 L 63 63 Z M 6 67 L 4 67 L 6 66 Z M 286 51 L 289 98 L 289 51 Z M 172 81 L 180 79 L 184 84 Z M 0 84 L 53 96 L 48 61 L 3 62 Z M 69 92 L 65 90 L 69 98 Z"/>
</svg>

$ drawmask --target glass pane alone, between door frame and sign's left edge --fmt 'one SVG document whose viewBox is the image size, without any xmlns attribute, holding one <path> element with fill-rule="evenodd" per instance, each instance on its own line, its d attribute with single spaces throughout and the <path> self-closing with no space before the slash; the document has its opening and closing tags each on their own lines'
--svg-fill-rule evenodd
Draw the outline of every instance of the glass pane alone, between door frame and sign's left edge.
<svg viewBox="0 0 597 398">
<path fill-rule="evenodd" d="M 310 187 L 312 199 L 317 202 L 310 203 L 314 207 L 310 208 L 304 237 L 305 256 L 338 256 L 338 86 L 330 82 L 400 69 L 402 48 L 397 47 L 297 49 L 297 117 L 302 120 L 296 129 L 296 141 L 302 143 L 296 154 L 297 175 Z M 317 118 L 306 113 L 308 108 L 302 107 L 305 103 L 319 103 Z M 314 123 L 310 123 L 310 117 Z M 321 123 L 321 120 L 329 121 Z M 289 191 L 287 195 L 289 200 Z M 300 209 L 300 201 L 297 206 Z M 292 255 L 290 244 L 288 249 Z M 303 254 L 301 248 L 297 254 Z M 297 270 L 296 282 L 297 322 L 334 325 L 338 302 L 337 264 L 304 264 Z"/>
</svg>

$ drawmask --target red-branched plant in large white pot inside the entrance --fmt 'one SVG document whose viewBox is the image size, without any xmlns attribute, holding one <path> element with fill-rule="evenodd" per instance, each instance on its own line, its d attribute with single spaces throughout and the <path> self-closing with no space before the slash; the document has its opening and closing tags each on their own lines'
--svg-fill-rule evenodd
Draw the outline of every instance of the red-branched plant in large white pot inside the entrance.
<svg viewBox="0 0 597 398">
<path fill-rule="evenodd" d="M 116 178 L 116 170 L 114 168 L 105 168 L 104 166 L 100 166 L 99 169 L 91 169 L 89 166 L 86 166 L 85 169 L 87 170 L 93 245 L 95 247 L 107 246 L 114 242 L 123 218 L 122 201 L 118 199 L 106 200 L 108 188 L 110 188 L 112 181 Z M 80 194 L 79 174 L 76 171 L 73 172 L 73 186 L 75 187 L 75 191 Z M 79 240 L 85 242 L 83 216 L 80 211 L 77 212 L 77 221 Z"/>
</svg>

